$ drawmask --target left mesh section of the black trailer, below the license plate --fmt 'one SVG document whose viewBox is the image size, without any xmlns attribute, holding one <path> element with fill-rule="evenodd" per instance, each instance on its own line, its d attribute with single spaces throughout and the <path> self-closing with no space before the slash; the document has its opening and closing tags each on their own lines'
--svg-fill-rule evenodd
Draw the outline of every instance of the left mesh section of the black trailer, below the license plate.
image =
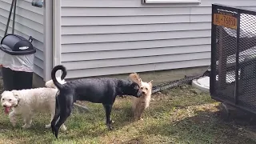
<svg viewBox="0 0 256 144">
<path fill-rule="evenodd" d="M 234 99 L 236 37 L 236 30 L 216 26 L 216 96 L 230 101 Z"/>
</svg>

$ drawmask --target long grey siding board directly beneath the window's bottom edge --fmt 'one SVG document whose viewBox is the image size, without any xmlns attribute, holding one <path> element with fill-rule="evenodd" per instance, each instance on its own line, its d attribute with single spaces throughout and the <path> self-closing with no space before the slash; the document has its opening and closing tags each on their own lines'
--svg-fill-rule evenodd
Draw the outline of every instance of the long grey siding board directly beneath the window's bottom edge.
<svg viewBox="0 0 256 144">
<path fill-rule="evenodd" d="M 255 7 L 237 6 L 244 9 L 255 10 Z M 75 17 L 102 17 L 102 16 L 149 16 L 149 15 L 188 15 L 211 14 L 211 6 L 207 7 L 150 7 L 150 8 L 86 8 L 63 7 L 62 16 Z"/>
</svg>

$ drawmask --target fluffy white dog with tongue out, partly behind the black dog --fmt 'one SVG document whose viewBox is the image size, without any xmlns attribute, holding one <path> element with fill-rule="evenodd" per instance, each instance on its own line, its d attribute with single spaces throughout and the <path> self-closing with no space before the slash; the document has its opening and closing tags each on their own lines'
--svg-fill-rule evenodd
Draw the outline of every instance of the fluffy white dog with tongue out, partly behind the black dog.
<svg viewBox="0 0 256 144">
<path fill-rule="evenodd" d="M 46 82 L 47 86 L 53 87 L 54 83 L 51 84 L 50 82 L 52 82 L 52 80 Z M 1 104 L 5 107 L 6 114 L 8 114 L 10 109 L 12 109 L 9 114 L 9 118 L 13 126 L 16 125 L 16 116 L 22 115 L 25 122 L 25 125 L 22 127 L 29 128 L 31 126 L 34 113 L 36 112 L 50 113 L 51 122 L 55 114 L 55 97 L 58 89 L 49 87 L 4 91 L 1 94 Z M 46 128 L 50 128 L 50 124 L 46 125 Z M 64 124 L 62 125 L 62 130 L 66 130 L 66 126 Z"/>
</svg>

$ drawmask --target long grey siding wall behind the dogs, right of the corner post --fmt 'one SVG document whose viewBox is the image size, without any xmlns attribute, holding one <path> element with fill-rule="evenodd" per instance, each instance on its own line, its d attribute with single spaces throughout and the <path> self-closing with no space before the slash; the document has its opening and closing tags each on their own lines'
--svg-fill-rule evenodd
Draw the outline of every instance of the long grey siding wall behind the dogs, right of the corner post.
<svg viewBox="0 0 256 144">
<path fill-rule="evenodd" d="M 256 10 L 255 0 L 160 5 L 62 0 L 61 62 L 67 78 L 210 65 L 212 3 Z"/>
</svg>

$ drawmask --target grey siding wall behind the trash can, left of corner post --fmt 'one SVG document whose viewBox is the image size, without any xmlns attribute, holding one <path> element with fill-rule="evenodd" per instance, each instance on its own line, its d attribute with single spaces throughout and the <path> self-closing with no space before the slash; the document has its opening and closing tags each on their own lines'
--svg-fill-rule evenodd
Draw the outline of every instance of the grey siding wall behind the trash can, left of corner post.
<svg viewBox="0 0 256 144">
<path fill-rule="evenodd" d="M 6 30 L 6 22 L 9 16 L 11 0 L 0 0 L 0 39 L 2 39 Z M 13 19 L 13 15 L 11 16 Z M 34 38 L 33 46 L 37 49 L 34 58 L 34 73 L 43 78 L 43 8 L 31 6 L 31 0 L 18 0 L 15 18 L 14 34 L 21 35 L 24 38 L 32 36 Z M 8 33 L 11 33 L 12 20 L 10 21 Z"/>
</svg>

